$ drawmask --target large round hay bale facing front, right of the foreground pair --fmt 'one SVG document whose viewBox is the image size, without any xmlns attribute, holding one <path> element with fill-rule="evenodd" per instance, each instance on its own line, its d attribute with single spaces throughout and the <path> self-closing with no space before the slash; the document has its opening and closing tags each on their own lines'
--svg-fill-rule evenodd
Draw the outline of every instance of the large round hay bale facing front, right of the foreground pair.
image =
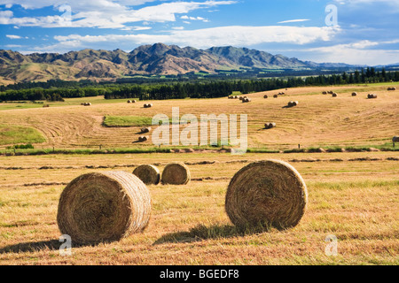
<svg viewBox="0 0 399 283">
<path fill-rule="evenodd" d="M 225 210 L 236 226 L 296 226 L 305 213 L 308 189 L 292 165 L 265 160 L 246 165 L 231 179 Z"/>
</svg>

